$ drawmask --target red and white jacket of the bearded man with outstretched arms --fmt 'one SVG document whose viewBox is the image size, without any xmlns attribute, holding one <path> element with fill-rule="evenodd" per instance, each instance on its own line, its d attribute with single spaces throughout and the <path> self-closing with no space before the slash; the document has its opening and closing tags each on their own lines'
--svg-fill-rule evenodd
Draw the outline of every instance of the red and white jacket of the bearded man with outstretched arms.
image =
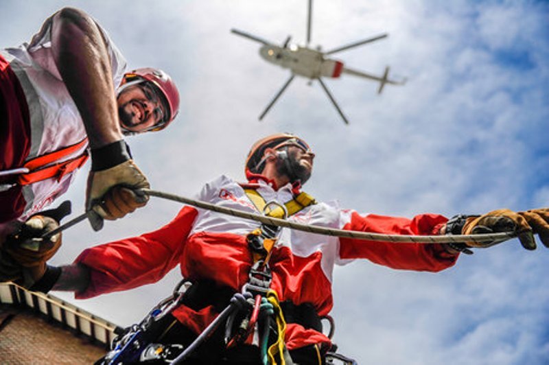
<svg viewBox="0 0 549 365">
<path fill-rule="evenodd" d="M 287 202 L 292 199 L 288 184 L 275 190 L 259 180 L 257 192 L 266 200 Z M 222 207 L 258 213 L 244 189 L 235 181 L 221 176 L 205 185 L 199 200 Z M 417 215 L 412 220 L 381 215 L 359 215 L 341 209 L 336 202 L 310 205 L 288 220 L 352 231 L 402 235 L 437 234 L 447 219 L 441 215 Z M 91 284 L 76 298 L 128 290 L 154 283 L 175 266 L 189 279 L 211 279 L 240 291 L 248 281 L 251 265 L 246 234 L 259 227 L 258 222 L 213 211 L 184 207 L 172 222 L 158 231 L 139 237 L 121 239 L 84 250 L 76 259 L 92 269 Z M 447 254 L 438 244 L 390 244 L 359 239 L 329 237 L 283 228 L 269 261 L 272 270 L 271 289 L 280 301 L 296 305 L 312 303 L 320 316 L 333 305 L 331 280 L 334 266 L 353 259 L 395 269 L 436 272 L 453 266 L 457 256 Z M 213 307 L 193 311 L 179 307 L 174 316 L 199 333 L 218 314 Z M 288 324 L 288 349 L 308 344 L 329 344 L 329 339 L 313 329 Z"/>
</svg>

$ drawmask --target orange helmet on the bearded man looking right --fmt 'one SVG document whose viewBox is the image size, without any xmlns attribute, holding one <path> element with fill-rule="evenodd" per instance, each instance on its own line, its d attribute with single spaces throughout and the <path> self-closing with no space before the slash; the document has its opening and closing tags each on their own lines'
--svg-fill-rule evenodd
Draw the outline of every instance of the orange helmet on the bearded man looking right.
<svg viewBox="0 0 549 365">
<path fill-rule="evenodd" d="M 284 145 L 290 144 L 297 145 L 306 152 L 310 152 L 311 150 L 307 142 L 290 133 L 271 134 L 270 136 L 259 139 L 259 141 L 252 145 L 250 152 L 248 152 L 248 157 L 246 157 L 246 165 L 244 167 L 246 176 L 249 176 L 250 174 L 259 174 L 259 172 L 261 172 L 259 167 L 261 167 L 264 162 L 263 153 L 266 148 L 274 148 L 276 150 Z"/>
</svg>

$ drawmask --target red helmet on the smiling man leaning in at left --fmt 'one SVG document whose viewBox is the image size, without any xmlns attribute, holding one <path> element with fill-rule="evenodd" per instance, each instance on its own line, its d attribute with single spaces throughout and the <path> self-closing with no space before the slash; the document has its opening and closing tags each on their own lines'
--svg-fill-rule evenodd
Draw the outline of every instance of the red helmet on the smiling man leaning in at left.
<svg viewBox="0 0 549 365">
<path fill-rule="evenodd" d="M 170 75 L 162 70 L 145 67 L 125 73 L 121 84 L 124 85 L 127 82 L 132 82 L 138 79 L 151 82 L 157 89 L 159 89 L 159 91 L 161 91 L 159 94 L 163 97 L 162 102 L 167 112 L 166 117 L 159 123 L 156 123 L 156 125 L 150 130 L 162 130 L 166 128 L 167 125 L 175 119 L 179 111 L 179 92 L 174 80 L 172 80 Z"/>
</svg>

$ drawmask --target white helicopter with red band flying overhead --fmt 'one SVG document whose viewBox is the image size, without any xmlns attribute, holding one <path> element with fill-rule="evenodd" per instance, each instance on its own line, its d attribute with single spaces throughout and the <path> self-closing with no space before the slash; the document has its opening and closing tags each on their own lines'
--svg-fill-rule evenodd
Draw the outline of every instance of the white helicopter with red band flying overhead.
<svg viewBox="0 0 549 365">
<path fill-rule="evenodd" d="M 272 64 L 277 64 L 284 69 L 290 69 L 291 71 L 290 78 L 285 82 L 285 84 L 283 84 L 277 95 L 274 95 L 274 98 L 272 98 L 263 113 L 259 115 L 260 121 L 265 117 L 265 115 L 268 113 L 270 108 L 272 108 L 274 103 L 277 102 L 282 93 L 286 89 L 288 89 L 288 86 L 290 86 L 290 83 L 294 80 L 296 75 L 308 78 L 309 84 L 311 84 L 312 81 L 317 80 L 320 86 L 322 86 L 322 89 L 325 91 L 328 98 L 330 99 L 331 104 L 334 105 L 345 124 L 349 124 L 349 120 L 343 114 L 340 106 L 336 102 L 336 99 L 334 99 L 334 96 L 331 95 L 322 78 L 340 78 L 342 74 L 347 74 L 358 76 L 360 78 L 374 80 L 379 82 L 379 88 L 377 89 L 378 94 L 382 93 L 386 84 L 406 84 L 406 79 L 390 80 L 388 78 L 388 66 L 385 67 L 385 71 L 382 76 L 376 76 L 362 71 L 349 69 L 348 67 L 344 67 L 342 61 L 336 60 L 334 58 L 329 58 L 329 56 L 338 52 L 347 51 L 348 49 L 366 45 L 367 43 L 372 43 L 376 40 L 386 38 L 388 34 L 380 34 L 379 36 L 359 40 L 358 42 L 353 42 L 341 47 L 331 49 L 329 51 L 321 51 L 320 46 L 316 47 L 316 49 L 309 47 L 309 44 L 311 43 L 311 14 L 312 0 L 309 0 L 307 9 L 307 43 L 305 46 L 290 43 L 290 40 L 292 39 L 291 36 L 288 36 L 284 43 L 279 46 L 275 45 L 272 42 L 269 42 L 268 40 L 264 40 L 247 32 L 242 32 L 241 30 L 237 30 L 234 28 L 231 29 L 231 33 L 233 34 L 237 34 L 238 36 L 242 36 L 244 38 L 248 38 L 250 40 L 254 40 L 255 42 L 261 43 L 262 46 L 259 49 L 259 55 L 261 56 L 261 58 Z"/>
</svg>

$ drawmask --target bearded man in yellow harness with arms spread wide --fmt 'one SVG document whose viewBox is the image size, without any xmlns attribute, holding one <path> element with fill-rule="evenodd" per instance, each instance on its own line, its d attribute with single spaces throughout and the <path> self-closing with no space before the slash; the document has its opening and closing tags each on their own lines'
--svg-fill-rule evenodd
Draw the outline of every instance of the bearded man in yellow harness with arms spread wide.
<svg viewBox="0 0 549 365">
<path fill-rule="evenodd" d="M 450 221 L 442 215 L 422 214 L 410 220 L 360 215 L 341 209 L 336 202 L 318 202 L 300 191 L 311 176 L 313 161 L 314 153 L 303 139 L 274 134 L 251 148 L 246 161 L 248 183 L 221 176 L 205 185 L 198 199 L 250 213 L 261 213 L 266 201 L 274 201 L 286 207 L 290 221 L 351 231 L 401 235 L 510 231 L 519 235 L 525 248 L 535 248 L 533 233 L 549 245 L 548 209 L 521 213 L 502 209 Z M 90 298 L 154 283 L 180 265 L 181 274 L 194 284 L 159 321 L 162 329 L 155 340 L 188 346 L 228 305 L 231 295 L 261 292 L 257 287 L 266 285 L 266 291 L 277 297 L 275 304 L 279 303 L 287 322 L 285 350 L 279 355 L 287 350 L 288 363 L 291 357 L 299 364 L 323 364 L 331 341 L 322 333 L 319 318 L 329 314 L 333 305 L 331 281 L 336 264 L 368 259 L 395 269 L 437 272 L 453 266 L 468 246 L 482 246 L 391 244 L 289 228 L 275 234 L 274 247 L 255 246 L 255 239 L 272 237 L 269 229 L 277 231 L 232 215 L 183 207 L 159 230 L 86 249 L 72 265 L 46 269 L 41 261 L 44 275 L 35 289 L 69 290 L 76 298 Z M 29 258 L 24 251 L 19 248 L 10 253 L 24 261 Z M 261 363 L 266 354 L 254 333 L 234 340 L 232 327 L 218 329 L 190 359 L 193 364 Z"/>
</svg>

